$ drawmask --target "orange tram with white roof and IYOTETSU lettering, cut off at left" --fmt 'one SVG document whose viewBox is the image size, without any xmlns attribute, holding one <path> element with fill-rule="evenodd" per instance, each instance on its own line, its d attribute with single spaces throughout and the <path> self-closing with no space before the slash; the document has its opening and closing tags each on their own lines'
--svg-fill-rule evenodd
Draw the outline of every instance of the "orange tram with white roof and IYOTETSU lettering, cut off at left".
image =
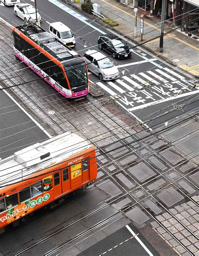
<svg viewBox="0 0 199 256">
<path fill-rule="evenodd" d="M 0 161 L 0 233 L 97 177 L 94 147 L 71 132 L 36 143 Z M 58 202 L 58 201 L 56 201 Z"/>
</svg>

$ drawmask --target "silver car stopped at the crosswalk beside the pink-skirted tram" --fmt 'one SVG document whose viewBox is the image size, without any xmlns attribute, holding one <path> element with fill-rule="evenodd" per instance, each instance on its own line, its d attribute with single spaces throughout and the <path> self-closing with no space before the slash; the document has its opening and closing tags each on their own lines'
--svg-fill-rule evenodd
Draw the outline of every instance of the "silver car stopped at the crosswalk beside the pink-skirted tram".
<svg viewBox="0 0 199 256">
<path fill-rule="evenodd" d="M 88 69 L 99 76 L 100 80 L 111 80 L 120 76 L 117 67 L 101 52 L 86 51 L 84 54 Z"/>
</svg>

